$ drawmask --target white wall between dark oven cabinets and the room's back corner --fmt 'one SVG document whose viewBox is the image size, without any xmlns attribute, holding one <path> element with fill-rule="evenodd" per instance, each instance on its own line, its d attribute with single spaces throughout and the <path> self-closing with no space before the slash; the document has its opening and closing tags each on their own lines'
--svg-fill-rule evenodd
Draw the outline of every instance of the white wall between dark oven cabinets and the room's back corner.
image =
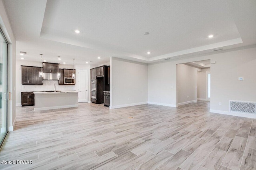
<svg viewBox="0 0 256 170">
<path fill-rule="evenodd" d="M 148 65 L 110 58 L 110 108 L 148 103 Z"/>
</svg>

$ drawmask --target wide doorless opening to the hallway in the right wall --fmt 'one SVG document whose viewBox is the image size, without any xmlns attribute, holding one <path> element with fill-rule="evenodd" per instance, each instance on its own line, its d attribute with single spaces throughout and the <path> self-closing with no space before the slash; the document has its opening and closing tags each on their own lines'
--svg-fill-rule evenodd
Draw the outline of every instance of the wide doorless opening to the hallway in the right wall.
<svg viewBox="0 0 256 170">
<path fill-rule="evenodd" d="M 176 65 L 176 105 L 210 101 L 210 59 Z"/>
</svg>

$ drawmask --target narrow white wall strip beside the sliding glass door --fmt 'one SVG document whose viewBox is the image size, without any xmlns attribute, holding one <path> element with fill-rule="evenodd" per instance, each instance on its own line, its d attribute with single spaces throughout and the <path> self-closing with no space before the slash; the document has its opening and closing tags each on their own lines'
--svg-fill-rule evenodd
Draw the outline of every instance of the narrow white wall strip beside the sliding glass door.
<svg viewBox="0 0 256 170">
<path fill-rule="evenodd" d="M 15 95 L 15 62 L 16 62 L 16 40 L 7 16 L 4 3 L 0 0 L 0 27 L 8 40 L 8 131 L 13 131 L 16 121 L 16 95 Z"/>
</svg>

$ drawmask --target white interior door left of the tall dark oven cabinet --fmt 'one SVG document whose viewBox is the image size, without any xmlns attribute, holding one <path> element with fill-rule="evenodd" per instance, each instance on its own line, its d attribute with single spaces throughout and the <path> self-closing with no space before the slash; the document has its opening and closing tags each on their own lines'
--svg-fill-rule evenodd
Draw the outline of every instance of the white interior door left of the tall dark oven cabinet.
<svg viewBox="0 0 256 170">
<path fill-rule="evenodd" d="M 88 103 L 88 69 L 78 69 L 78 102 Z"/>
</svg>

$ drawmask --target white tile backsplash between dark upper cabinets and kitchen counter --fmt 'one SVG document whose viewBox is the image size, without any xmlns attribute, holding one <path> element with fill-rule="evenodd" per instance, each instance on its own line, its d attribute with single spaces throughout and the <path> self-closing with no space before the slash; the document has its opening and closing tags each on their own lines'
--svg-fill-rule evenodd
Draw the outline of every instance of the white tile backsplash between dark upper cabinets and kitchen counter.
<svg viewBox="0 0 256 170">
<path fill-rule="evenodd" d="M 56 90 L 58 91 L 76 90 L 75 85 L 58 85 L 57 80 L 44 80 L 43 85 L 21 85 L 21 91 L 50 91 L 54 90 L 54 83 L 56 83 Z"/>
</svg>

